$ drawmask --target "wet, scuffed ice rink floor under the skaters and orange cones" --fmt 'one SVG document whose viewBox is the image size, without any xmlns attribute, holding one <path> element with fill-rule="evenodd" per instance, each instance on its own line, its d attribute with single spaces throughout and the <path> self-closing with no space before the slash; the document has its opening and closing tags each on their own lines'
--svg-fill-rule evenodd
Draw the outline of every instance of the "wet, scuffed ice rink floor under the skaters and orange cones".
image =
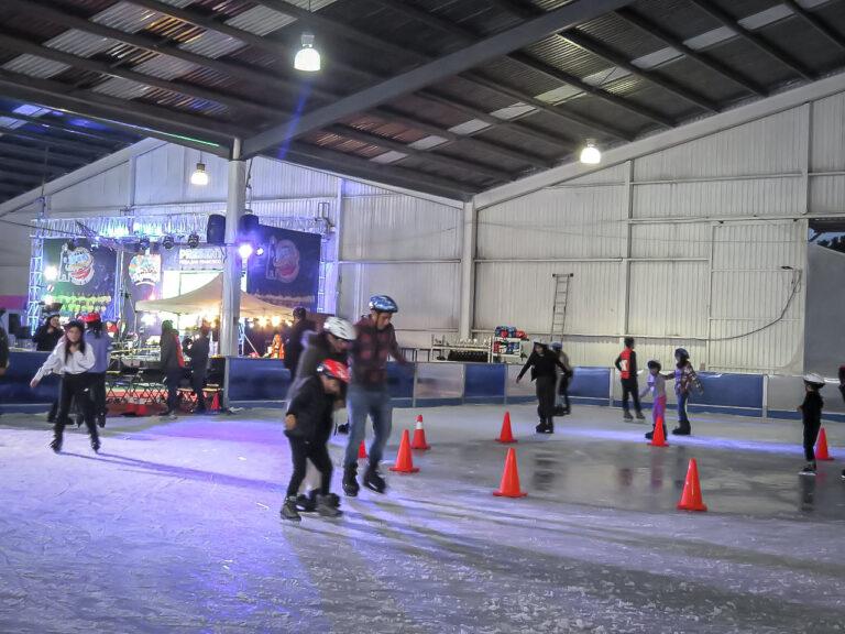
<svg viewBox="0 0 845 634">
<path fill-rule="evenodd" d="M 845 632 L 845 426 L 808 479 L 799 422 L 693 416 L 652 448 L 617 409 L 553 436 L 534 409 L 511 408 L 511 446 L 503 407 L 422 409 L 419 473 L 299 525 L 279 411 L 112 418 L 99 456 L 3 415 L 0 632 Z M 492 495 L 508 447 L 527 498 Z M 707 513 L 676 510 L 691 457 Z"/>
</svg>

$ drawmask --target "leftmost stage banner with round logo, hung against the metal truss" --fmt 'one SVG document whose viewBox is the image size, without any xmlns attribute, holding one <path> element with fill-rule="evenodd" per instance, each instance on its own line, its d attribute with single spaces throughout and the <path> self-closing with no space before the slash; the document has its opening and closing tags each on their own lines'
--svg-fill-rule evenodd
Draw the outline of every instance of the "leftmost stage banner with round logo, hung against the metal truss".
<svg viewBox="0 0 845 634">
<path fill-rule="evenodd" d="M 117 265 L 113 249 L 83 239 L 46 239 L 43 270 L 55 269 L 56 276 L 45 280 L 44 295 L 62 303 L 61 313 L 68 317 L 97 311 L 105 320 L 113 320 Z"/>
</svg>

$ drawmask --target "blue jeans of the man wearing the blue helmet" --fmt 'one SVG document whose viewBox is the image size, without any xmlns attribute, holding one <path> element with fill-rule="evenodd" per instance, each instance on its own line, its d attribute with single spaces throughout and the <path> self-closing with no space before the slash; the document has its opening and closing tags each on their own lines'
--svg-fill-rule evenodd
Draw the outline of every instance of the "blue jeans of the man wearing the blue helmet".
<svg viewBox="0 0 845 634">
<path fill-rule="evenodd" d="M 393 407 L 387 389 L 364 390 L 360 385 L 350 385 L 347 393 L 349 408 L 349 445 L 343 467 L 358 464 L 358 448 L 366 435 L 366 416 L 373 419 L 375 438 L 370 445 L 370 463 L 378 464 L 384 453 L 384 446 L 391 437 L 393 427 Z"/>
</svg>

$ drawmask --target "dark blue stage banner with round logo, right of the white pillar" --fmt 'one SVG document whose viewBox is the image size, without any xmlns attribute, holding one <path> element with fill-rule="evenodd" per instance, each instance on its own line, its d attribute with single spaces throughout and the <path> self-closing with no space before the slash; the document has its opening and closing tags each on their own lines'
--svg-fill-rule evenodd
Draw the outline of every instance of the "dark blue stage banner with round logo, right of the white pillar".
<svg viewBox="0 0 845 634">
<path fill-rule="evenodd" d="M 317 233 L 261 226 L 262 255 L 248 264 L 246 292 L 277 306 L 317 309 L 320 245 Z"/>
</svg>

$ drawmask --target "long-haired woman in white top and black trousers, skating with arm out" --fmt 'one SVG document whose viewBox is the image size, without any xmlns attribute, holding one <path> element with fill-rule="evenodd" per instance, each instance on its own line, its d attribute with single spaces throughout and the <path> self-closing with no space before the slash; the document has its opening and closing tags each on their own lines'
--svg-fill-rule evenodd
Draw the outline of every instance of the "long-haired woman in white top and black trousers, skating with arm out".
<svg viewBox="0 0 845 634">
<path fill-rule="evenodd" d="M 65 326 L 65 335 L 59 339 L 55 350 L 50 353 L 35 376 L 30 382 L 35 387 L 42 378 L 51 373 L 62 374 L 62 387 L 58 397 L 58 415 L 53 427 L 53 441 L 50 446 L 58 453 L 62 450 L 62 435 L 67 425 L 70 403 L 74 397 L 85 413 L 85 424 L 91 436 L 91 448 L 100 449 L 100 439 L 97 434 L 97 425 L 94 422 L 94 409 L 90 396 L 90 387 L 95 375 L 89 372 L 95 364 L 94 349 L 85 345 L 83 335 L 85 327 L 81 321 L 69 321 Z"/>
</svg>

